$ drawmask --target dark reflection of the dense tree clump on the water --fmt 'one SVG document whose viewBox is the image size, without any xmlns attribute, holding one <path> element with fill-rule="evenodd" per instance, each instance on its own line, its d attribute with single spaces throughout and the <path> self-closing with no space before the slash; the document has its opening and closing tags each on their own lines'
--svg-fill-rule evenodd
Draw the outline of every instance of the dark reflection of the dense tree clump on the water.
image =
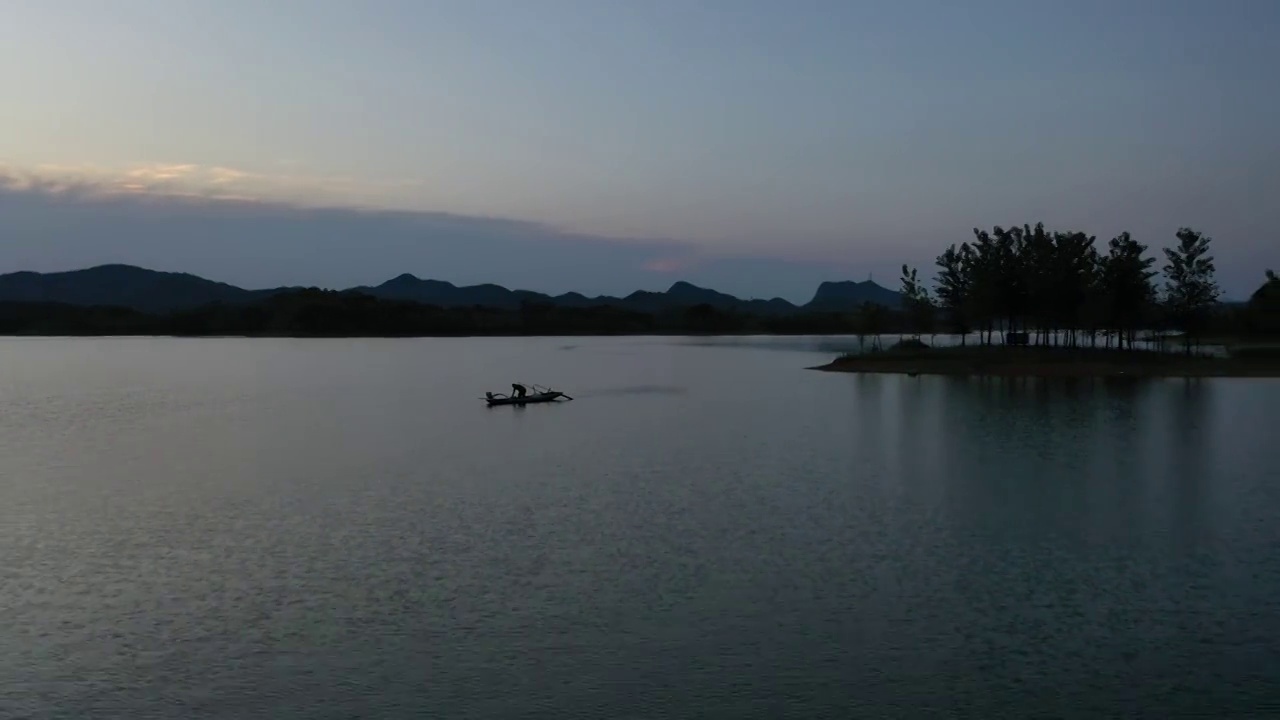
<svg viewBox="0 0 1280 720">
<path fill-rule="evenodd" d="M 1070 534 L 1125 534 L 1142 473 L 1140 379 L 954 378 L 943 405 L 942 465 L 959 507 L 983 519 L 996 502 L 1023 523 Z M 1024 528 L 1034 533 L 1032 528 Z"/>
</svg>

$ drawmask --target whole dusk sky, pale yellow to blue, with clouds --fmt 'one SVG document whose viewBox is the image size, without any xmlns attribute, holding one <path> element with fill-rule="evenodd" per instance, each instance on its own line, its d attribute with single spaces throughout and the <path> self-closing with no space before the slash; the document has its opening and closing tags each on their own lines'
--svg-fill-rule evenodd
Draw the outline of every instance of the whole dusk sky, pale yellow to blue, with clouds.
<svg viewBox="0 0 1280 720">
<path fill-rule="evenodd" d="M 13 0 L 0 272 L 896 287 L 972 228 L 1280 269 L 1280 3 Z"/>
</svg>

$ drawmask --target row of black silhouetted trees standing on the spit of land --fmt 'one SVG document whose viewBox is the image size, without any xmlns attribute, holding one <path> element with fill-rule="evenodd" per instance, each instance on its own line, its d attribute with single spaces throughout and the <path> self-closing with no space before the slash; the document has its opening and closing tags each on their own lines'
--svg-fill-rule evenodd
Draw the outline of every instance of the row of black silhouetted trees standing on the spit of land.
<svg viewBox="0 0 1280 720">
<path fill-rule="evenodd" d="M 978 333 L 1006 343 L 1132 347 L 1140 331 L 1184 333 L 1185 348 L 1206 333 L 1277 332 L 1276 278 L 1243 307 L 1219 302 L 1212 240 L 1180 228 L 1176 245 L 1164 250 L 1157 273 L 1147 246 L 1128 232 L 1100 247 L 1083 232 L 1034 227 L 974 228 L 974 240 L 951 245 L 937 258 L 933 291 L 916 270 L 902 266 L 902 322 L 914 334 Z M 1162 283 L 1157 283 L 1157 277 Z M 1265 291 L 1265 292 L 1263 292 Z M 874 325 L 864 318 L 863 325 Z"/>
</svg>

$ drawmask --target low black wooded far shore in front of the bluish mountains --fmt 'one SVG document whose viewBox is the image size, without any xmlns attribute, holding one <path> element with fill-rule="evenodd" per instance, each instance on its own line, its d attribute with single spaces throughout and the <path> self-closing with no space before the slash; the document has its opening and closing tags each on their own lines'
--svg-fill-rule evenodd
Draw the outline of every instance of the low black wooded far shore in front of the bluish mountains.
<svg viewBox="0 0 1280 720">
<path fill-rule="evenodd" d="M 19 275 L 12 286 L 29 282 Z M 155 278 L 147 278 L 155 281 Z M 189 279 L 182 287 L 206 287 Z M 198 278 L 197 278 L 198 281 Z M 216 286 L 216 283 L 214 283 Z M 445 283 L 447 284 L 447 283 Z M 41 287 L 58 288 L 56 283 Z M 148 284 L 145 287 L 156 287 Z M 493 286 L 480 286 L 480 292 L 493 292 Z M 1268 281 L 1248 306 L 1212 313 L 1204 318 L 1206 332 L 1220 336 L 1275 337 L 1280 333 L 1280 307 L 1276 305 L 1276 281 Z M 110 288 L 108 288 L 110 290 Z M 742 307 L 768 305 L 771 301 L 733 304 L 730 296 L 705 295 L 700 288 L 678 288 L 676 299 L 666 292 L 632 293 L 631 302 L 649 304 L 654 311 L 599 304 L 600 299 L 582 296 L 567 302 L 524 301 L 515 309 L 486 305 L 439 305 L 413 300 L 374 297 L 352 290 L 278 288 L 271 291 L 228 292 L 215 295 L 232 301 L 205 302 L 177 311 L 142 311 L 119 304 L 72 304 L 51 301 L 0 300 L 0 334 L 4 336 L 288 336 L 288 337 L 406 337 L 406 336 L 539 336 L 539 334 L 686 334 L 686 333 L 765 333 L 765 334 L 859 334 L 878 338 L 882 334 L 956 332 L 963 327 L 948 323 L 946 316 L 933 318 L 922 327 L 915 313 L 859 307 L 854 313 L 796 310 L 771 315 L 749 313 Z M 500 288 L 499 288 L 500 290 Z M 243 293 L 243 295 L 242 295 Z M 127 292 L 106 292 L 127 297 Z M 515 297 L 536 293 L 513 292 Z M 452 293 L 444 293 L 448 299 Z M 545 296 L 541 296 L 545 297 Z M 248 299 L 248 301 L 242 301 Z M 690 300 L 714 300 L 695 305 L 667 305 Z M 842 301 L 856 301 L 844 297 Z M 151 302 L 155 302 L 152 299 Z M 573 305 L 575 302 L 585 302 Z M 1153 315 L 1160 324 L 1158 315 Z M 936 320 L 936 322 L 934 322 Z M 1080 337 L 1097 340 L 1097 328 L 1085 328 Z"/>
</svg>

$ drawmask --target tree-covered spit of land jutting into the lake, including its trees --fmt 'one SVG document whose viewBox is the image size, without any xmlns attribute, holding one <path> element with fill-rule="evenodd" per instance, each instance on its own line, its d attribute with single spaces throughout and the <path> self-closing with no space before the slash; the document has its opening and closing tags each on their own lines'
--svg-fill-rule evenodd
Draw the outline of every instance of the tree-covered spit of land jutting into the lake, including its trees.
<svg viewBox="0 0 1280 720">
<path fill-rule="evenodd" d="M 1157 273 L 1147 246 L 1120 233 L 1105 249 L 1043 224 L 974 228 L 937 256 L 932 287 L 902 266 L 893 333 L 864 318 L 864 351 L 814 368 L 844 373 L 996 377 L 1280 377 L 1280 279 L 1226 304 L 1211 238 L 1180 228 Z M 1157 284 L 1157 274 L 1162 283 Z M 924 336 L 956 340 L 932 347 Z M 870 337 L 870 348 L 867 340 Z M 1212 338 L 1212 352 L 1206 341 Z"/>
</svg>

